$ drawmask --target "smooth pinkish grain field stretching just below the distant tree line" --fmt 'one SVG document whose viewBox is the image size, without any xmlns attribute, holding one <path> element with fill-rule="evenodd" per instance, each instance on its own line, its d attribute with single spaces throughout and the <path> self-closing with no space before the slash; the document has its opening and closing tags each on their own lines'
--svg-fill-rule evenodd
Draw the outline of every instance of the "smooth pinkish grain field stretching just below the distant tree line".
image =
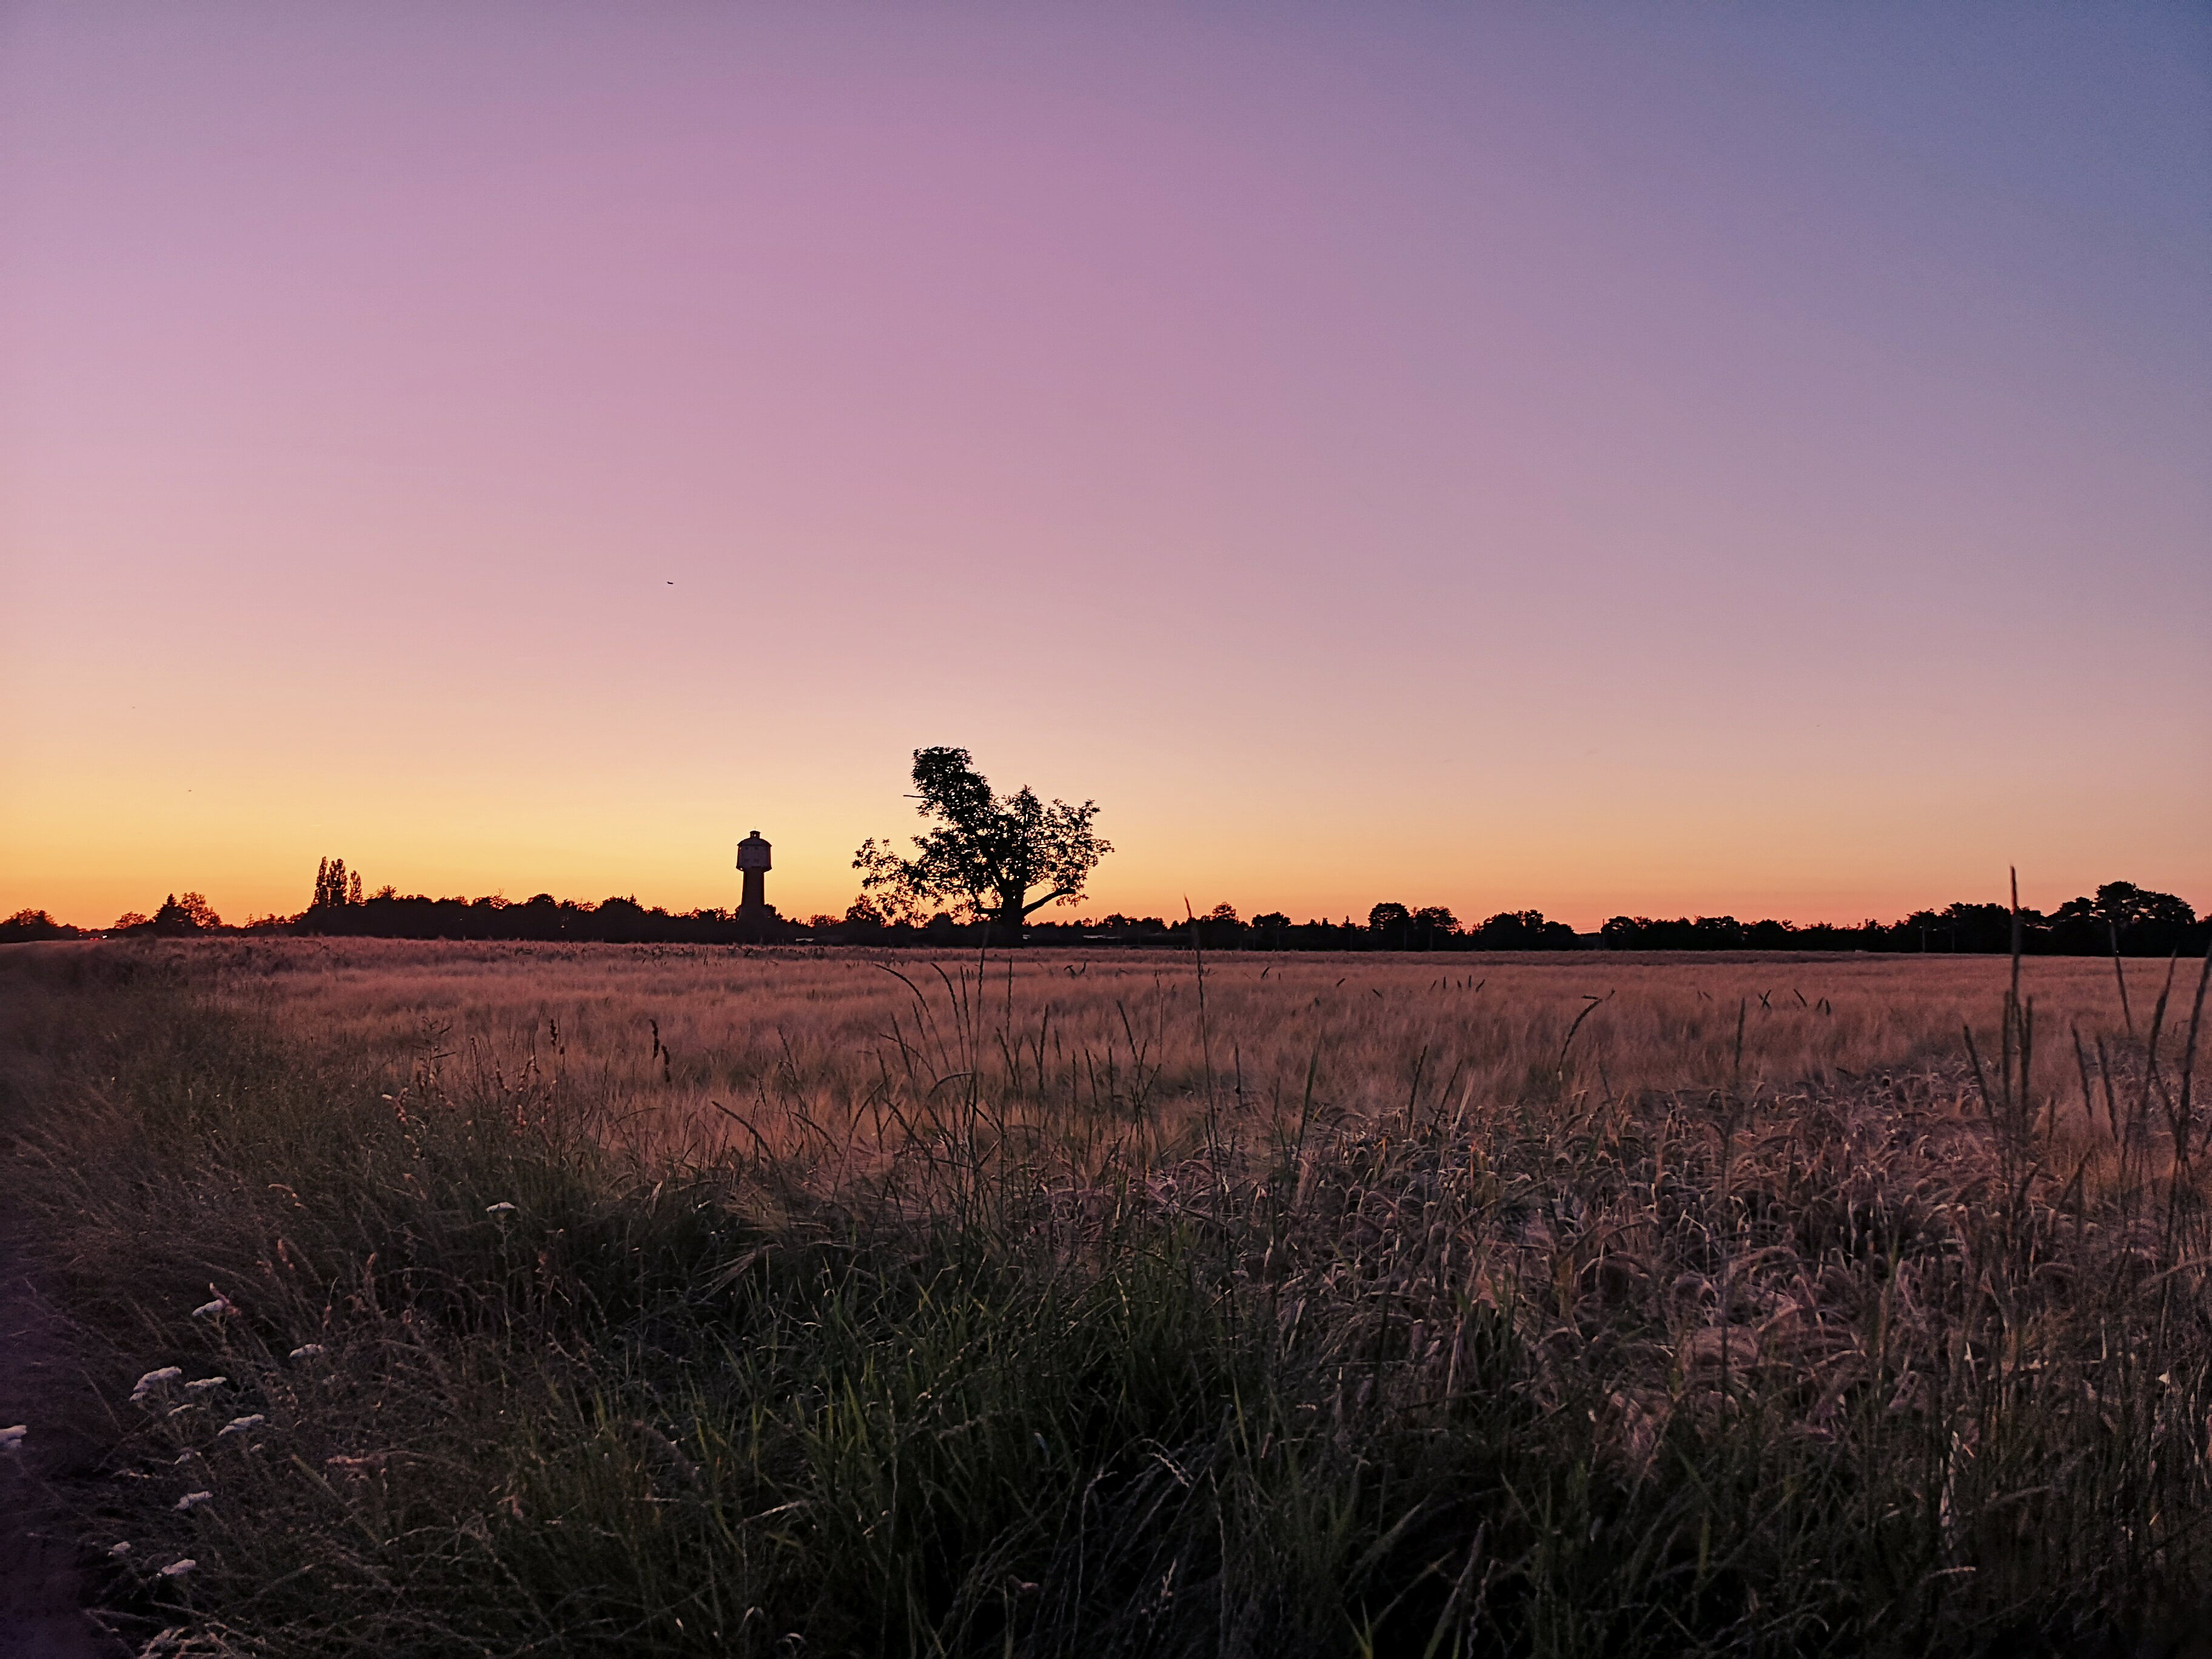
<svg viewBox="0 0 2212 1659">
<path fill-rule="evenodd" d="M 500 1077 L 557 1068 L 568 1088 L 668 1133 L 712 1124 L 712 1102 L 765 1102 L 748 1115 L 774 1133 L 779 1099 L 845 1130 L 911 1046 L 958 1035 L 962 1009 L 982 1033 L 967 1064 L 993 1093 L 1077 1108 L 1119 1095 L 1172 1110 L 1206 1097 L 1208 1071 L 1217 1093 L 1274 1113 L 1303 1104 L 1312 1068 L 1321 1099 L 1365 1117 L 1438 1091 L 1498 1104 L 1858 1086 L 1962 1066 L 1966 1026 L 1989 1048 L 2008 975 L 1978 956 L 1232 953 L 1206 962 L 1201 1033 L 1188 953 L 1033 951 L 978 969 L 973 953 L 721 947 L 181 949 L 215 958 L 226 995 L 303 1037 L 447 1053 Z M 2137 1020 L 2163 969 L 2128 964 Z M 2037 958 L 2026 989 L 2046 1033 L 2079 1029 L 2090 1048 L 2126 1040 L 2110 962 Z M 2051 1042 L 2035 1086 L 2075 1097 L 2070 1068 L 2070 1048 Z"/>
</svg>

